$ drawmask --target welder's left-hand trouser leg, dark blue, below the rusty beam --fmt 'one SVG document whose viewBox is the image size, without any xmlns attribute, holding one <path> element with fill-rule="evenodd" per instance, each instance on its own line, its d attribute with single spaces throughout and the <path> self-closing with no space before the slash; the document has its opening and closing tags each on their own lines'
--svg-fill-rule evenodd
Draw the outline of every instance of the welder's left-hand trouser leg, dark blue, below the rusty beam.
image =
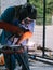
<svg viewBox="0 0 53 70">
<path fill-rule="evenodd" d="M 14 70 L 16 67 L 14 55 L 8 55 L 8 54 L 3 54 L 3 55 L 4 55 L 5 67 L 9 70 Z"/>
</svg>

